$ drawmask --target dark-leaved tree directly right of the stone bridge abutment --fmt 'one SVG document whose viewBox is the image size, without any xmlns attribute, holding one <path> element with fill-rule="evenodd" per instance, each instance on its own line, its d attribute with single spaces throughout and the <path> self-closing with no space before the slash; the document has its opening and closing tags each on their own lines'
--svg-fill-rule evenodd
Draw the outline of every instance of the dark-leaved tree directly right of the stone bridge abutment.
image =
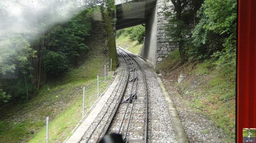
<svg viewBox="0 0 256 143">
<path fill-rule="evenodd" d="M 172 43 L 178 43 L 180 56 L 184 59 L 184 45 L 191 42 L 191 31 L 198 22 L 196 12 L 203 0 L 167 0 L 166 4 L 169 1 L 173 5 L 166 5 L 164 8 L 164 15 L 169 19 L 169 25 L 166 28 L 167 36 Z"/>
</svg>

